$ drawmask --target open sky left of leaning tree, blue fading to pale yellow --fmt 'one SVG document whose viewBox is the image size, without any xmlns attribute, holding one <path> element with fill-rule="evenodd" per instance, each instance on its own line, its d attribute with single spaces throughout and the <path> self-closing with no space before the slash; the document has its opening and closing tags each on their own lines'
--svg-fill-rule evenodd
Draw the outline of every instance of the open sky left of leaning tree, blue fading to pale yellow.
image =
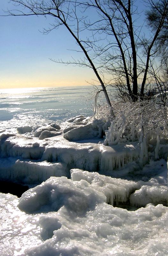
<svg viewBox="0 0 168 256">
<path fill-rule="evenodd" d="M 0 14 L 10 6 L 0 0 Z M 87 85 L 96 80 L 89 68 L 50 60 L 69 61 L 79 53 L 68 50 L 77 46 L 63 26 L 41 33 L 48 22 L 42 16 L 0 17 L 0 89 Z"/>
</svg>

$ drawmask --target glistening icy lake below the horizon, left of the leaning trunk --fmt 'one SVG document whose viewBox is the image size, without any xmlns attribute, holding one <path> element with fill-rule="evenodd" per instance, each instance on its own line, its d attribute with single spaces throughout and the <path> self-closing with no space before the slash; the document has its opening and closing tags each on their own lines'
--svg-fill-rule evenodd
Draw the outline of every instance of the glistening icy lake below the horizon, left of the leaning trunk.
<svg viewBox="0 0 168 256">
<path fill-rule="evenodd" d="M 0 129 L 93 114 L 92 86 L 0 90 Z"/>
</svg>

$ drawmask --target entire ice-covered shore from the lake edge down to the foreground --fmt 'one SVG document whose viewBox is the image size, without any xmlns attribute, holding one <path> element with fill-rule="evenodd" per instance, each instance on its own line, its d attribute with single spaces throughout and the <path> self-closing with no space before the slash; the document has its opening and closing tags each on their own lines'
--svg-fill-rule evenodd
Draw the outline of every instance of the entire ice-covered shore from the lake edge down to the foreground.
<svg viewBox="0 0 168 256">
<path fill-rule="evenodd" d="M 0 133 L 0 180 L 30 188 L 0 193 L 0 255 L 168 255 L 167 144 L 140 168 L 139 143 L 105 146 L 102 129 L 78 116 Z"/>
</svg>

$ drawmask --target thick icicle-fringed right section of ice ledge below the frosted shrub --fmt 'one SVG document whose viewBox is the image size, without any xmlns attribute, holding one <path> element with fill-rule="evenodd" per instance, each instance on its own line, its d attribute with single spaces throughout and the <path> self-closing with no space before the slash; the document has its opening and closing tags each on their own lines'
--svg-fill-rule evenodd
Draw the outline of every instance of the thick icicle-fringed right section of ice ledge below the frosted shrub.
<svg viewBox="0 0 168 256">
<path fill-rule="evenodd" d="M 69 142 L 61 138 L 45 149 L 41 159 L 65 163 L 69 169 L 107 172 L 138 159 L 139 153 L 137 142 L 109 147 L 96 143 Z"/>
</svg>

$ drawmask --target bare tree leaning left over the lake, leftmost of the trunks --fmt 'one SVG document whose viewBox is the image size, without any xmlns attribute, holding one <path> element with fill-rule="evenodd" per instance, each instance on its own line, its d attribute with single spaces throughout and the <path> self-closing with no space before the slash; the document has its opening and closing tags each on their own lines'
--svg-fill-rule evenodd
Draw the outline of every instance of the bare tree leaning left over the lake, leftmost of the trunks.
<svg viewBox="0 0 168 256">
<path fill-rule="evenodd" d="M 82 21 L 85 19 L 84 17 L 78 17 L 77 8 L 79 4 L 74 1 L 64 1 L 64 0 L 11 0 L 15 6 L 17 6 L 14 10 L 8 10 L 7 15 L 13 16 L 31 16 L 31 15 L 43 15 L 43 16 L 52 16 L 53 24 L 50 24 L 51 27 L 48 29 L 44 29 L 44 33 L 49 33 L 51 30 L 64 25 L 71 36 L 76 41 L 77 45 L 80 48 L 80 51 L 84 53 L 84 58 L 80 60 L 73 60 L 69 62 L 63 62 L 62 60 L 58 60 L 58 62 L 66 63 L 66 64 L 76 64 L 80 66 L 85 66 L 92 68 L 95 75 L 98 78 L 98 81 L 102 87 L 102 91 L 105 94 L 106 102 L 111 109 L 111 115 L 114 116 L 112 105 L 109 99 L 109 96 L 106 91 L 106 84 L 103 81 L 103 78 L 99 72 L 99 67 L 97 67 L 96 63 L 94 63 L 94 58 L 89 54 L 91 50 L 91 43 L 89 40 L 83 40 L 80 37 L 81 31 L 84 31 L 84 27 Z M 57 62 L 57 60 L 54 60 Z"/>
</svg>

